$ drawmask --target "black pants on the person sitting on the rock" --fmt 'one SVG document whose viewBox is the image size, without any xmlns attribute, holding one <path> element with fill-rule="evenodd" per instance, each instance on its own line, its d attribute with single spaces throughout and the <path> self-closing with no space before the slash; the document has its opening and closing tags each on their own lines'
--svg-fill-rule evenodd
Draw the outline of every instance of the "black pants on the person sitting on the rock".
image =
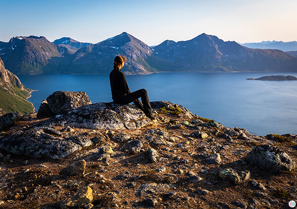
<svg viewBox="0 0 297 209">
<path fill-rule="evenodd" d="M 140 97 L 142 102 L 139 100 Z M 128 93 L 123 97 L 116 98 L 113 100 L 113 102 L 117 104 L 122 104 L 122 105 L 134 102 L 134 104 L 145 113 L 151 113 L 151 106 L 148 99 L 148 92 L 144 88 L 134 91 L 132 93 Z"/>
</svg>

